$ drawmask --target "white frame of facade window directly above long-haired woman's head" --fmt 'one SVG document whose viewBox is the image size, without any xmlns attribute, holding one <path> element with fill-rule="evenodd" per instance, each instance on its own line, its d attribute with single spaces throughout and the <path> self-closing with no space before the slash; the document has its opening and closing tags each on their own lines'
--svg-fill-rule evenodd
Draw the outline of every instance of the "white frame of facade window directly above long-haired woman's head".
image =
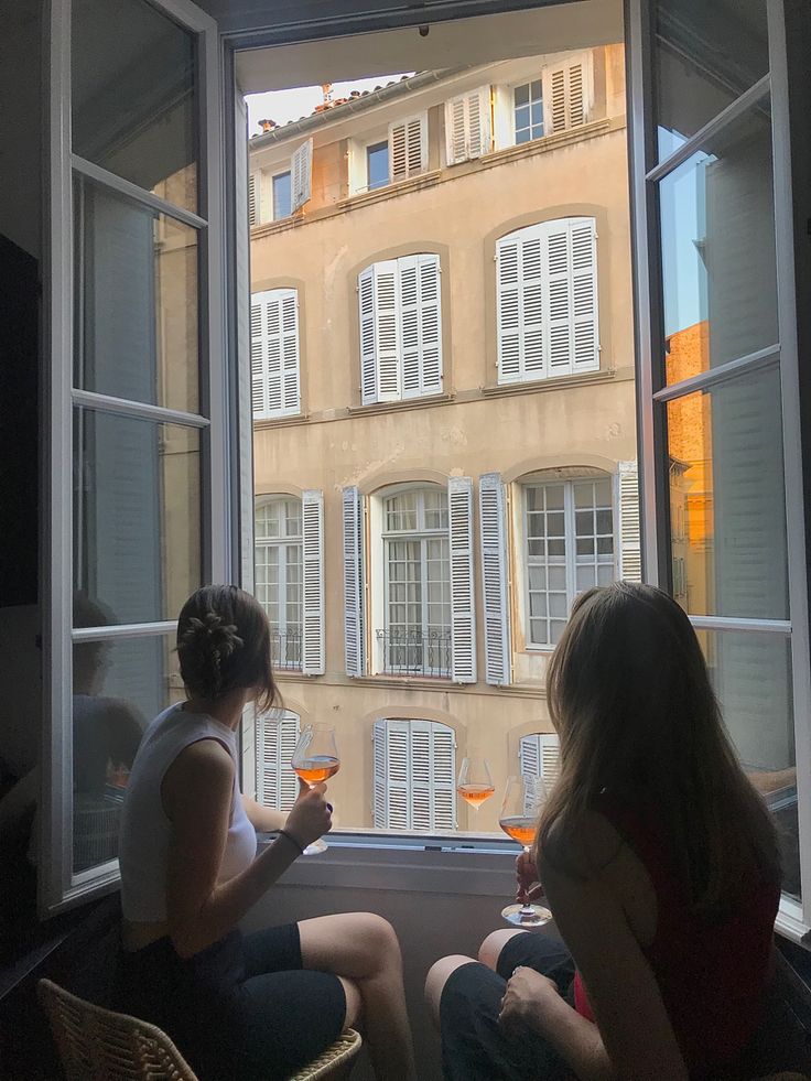
<svg viewBox="0 0 811 1081">
<path fill-rule="evenodd" d="M 564 516 L 564 542 L 566 549 L 565 555 L 565 592 L 566 592 L 566 614 L 565 616 L 555 616 L 555 619 L 567 619 L 569 613 L 571 612 L 572 605 L 581 592 L 577 590 L 576 584 L 576 569 L 577 569 L 577 555 L 575 552 L 575 505 L 574 505 L 574 486 L 577 484 L 599 484 L 606 483 L 609 485 L 612 493 L 612 545 L 613 552 L 610 560 L 598 559 L 596 553 L 594 554 L 594 567 L 595 577 L 597 566 L 612 566 L 612 580 L 618 577 L 619 571 L 619 530 L 618 530 L 618 509 L 616 500 L 616 488 L 613 478 L 609 474 L 601 474 L 594 476 L 571 476 L 563 478 L 554 477 L 542 477 L 537 480 L 527 479 L 521 483 L 521 564 L 520 572 L 523 579 L 523 590 L 522 590 L 522 607 L 523 607 L 523 635 L 527 645 L 527 650 L 532 652 L 550 652 L 554 649 L 554 644 L 552 641 L 534 641 L 532 639 L 532 619 L 533 618 L 545 618 L 551 619 L 549 612 L 545 617 L 531 617 L 531 602 L 530 602 L 530 566 L 534 565 L 530 562 L 529 558 L 529 509 L 528 509 L 528 489 L 530 488 L 547 488 L 547 487 L 563 487 L 563 516 Z M 555 511 L 559 514 L 561 511 Z M 541 564 L 543 562 L 541 561 Z M 548 565 L 548 564 L 547 564 Z M 559 564 L 553 564 L 559 565 Z"/>
</svg>

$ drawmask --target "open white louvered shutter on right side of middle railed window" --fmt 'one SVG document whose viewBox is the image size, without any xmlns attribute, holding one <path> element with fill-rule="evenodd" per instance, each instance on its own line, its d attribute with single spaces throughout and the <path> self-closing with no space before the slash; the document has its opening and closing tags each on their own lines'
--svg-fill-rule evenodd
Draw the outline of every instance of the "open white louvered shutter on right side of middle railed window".
<svg viewBox="0 0 811 1081">
<path fill-rule="evenodd" d="M 476 682 L 476 612 L 473 584 L 473 482 L 451 477 L 447 483 L 451 549 L 452 678 Z"/>
</svg>

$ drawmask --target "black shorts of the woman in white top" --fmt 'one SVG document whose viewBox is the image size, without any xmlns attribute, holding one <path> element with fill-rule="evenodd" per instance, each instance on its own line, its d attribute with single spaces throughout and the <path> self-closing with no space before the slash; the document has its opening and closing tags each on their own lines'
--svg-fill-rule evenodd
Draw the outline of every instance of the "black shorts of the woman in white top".
<svg viewBox="0 0 811 1081">
<path fill-rule="evenodd" d="M 187 960 L 169 938 L 121 951 L 113 1008 L 162 1028 L 201 1081 L 271 1081 L 337 1039 L 346 995 L 337 976 L 302 968 L 286 923 L 231 931 Z"/>
</svg>

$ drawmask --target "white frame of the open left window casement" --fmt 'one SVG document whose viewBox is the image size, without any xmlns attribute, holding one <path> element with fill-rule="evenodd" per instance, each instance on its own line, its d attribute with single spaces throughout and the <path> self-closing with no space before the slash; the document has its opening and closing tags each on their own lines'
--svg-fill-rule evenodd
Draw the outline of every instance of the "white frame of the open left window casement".
<svg viewBox="0 0 811 1081">
<path fill-rule="evenodd" d="M 229 581 L 235 565 L 235 536 L 227 496 L 231 446 L 227 439 L 229 402 L 223 284 L 225 216 L 223 143 L 219 93 L 219 31 L 217 24 L 187 0 L 150 0 L 151 7 L 195 34 L 198 41 L 198 100 L 201 212 L 195 213 L 153 195 L 93 162 L 73 154 L 71 144 L 72 55 L 71 0 L 50 7 L 48 205 L 46 246 L 50 292 L 47 333 L 51 371 L 43 425 L 43 491 L 50 493 L 44 544 L 46 562 L 43 602 L 43 813 L 40 815 L 39 909 L 43 917 L 82 904 L 115 888 L 118 861 L 73 871 L 73 664 L 78 641 L 151 638 L 165 640 L 176 629 L 173 619 L 74 629 L 73 606 L 73 410 L 101 409 L 108 413 L 180 424 L 201 433 L 202 580 Z M 46 53 L 46 56 L 48 54 Z M 186 413 L 160 406 L 79 390 L 73 387 L 75 280 L 73 173 L 88 177 L 110 193 L 165 214 L 201 236 L 201 400 L 206 413 Z M 245 196 L 247 199 L 247 184 Z M 242 228 L 247 236 L 246 203 Z M 201 406 L 201 410 L 205 407 Z"/>
</svg>

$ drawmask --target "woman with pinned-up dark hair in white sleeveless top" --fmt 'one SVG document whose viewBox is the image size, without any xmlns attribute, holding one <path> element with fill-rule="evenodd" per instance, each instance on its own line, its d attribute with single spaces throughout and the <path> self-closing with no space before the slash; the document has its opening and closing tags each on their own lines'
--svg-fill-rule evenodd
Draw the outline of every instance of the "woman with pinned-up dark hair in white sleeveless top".
<svg viewBox="0 0 811 1081">
<path fill-rule="evenodd" d="M 402 962 L 371 914 L 242 936 L 238 923 L 331 829 L 325 786 L 289 814 L 239 791 L 247 703 L 277 700 L 270 627 L 236 586 L 198 590 L 177 624 L 186 701 L 147 731 L 125 799 L 118 1008 L 166 1031 L 201 1081 L 288 1078 L 361 1017 L 380 1081 L 415 1077 Z M 257 856 L 256 831 L 279 831 Z"/>
</svg>

